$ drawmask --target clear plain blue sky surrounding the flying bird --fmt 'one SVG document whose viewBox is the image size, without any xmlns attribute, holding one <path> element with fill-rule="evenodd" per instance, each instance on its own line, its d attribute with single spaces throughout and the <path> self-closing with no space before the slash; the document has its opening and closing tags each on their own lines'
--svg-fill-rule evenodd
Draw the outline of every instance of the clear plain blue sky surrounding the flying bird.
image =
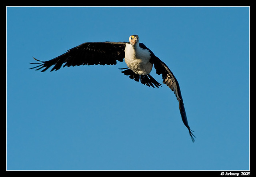
<svg viewBox="0 0 256 177">
<path fill-rule="evenodd" d="M 7 7 L 7 170 L 249 170 L 249 7 Z M 138 34 L 176 76 L 113 66 L 29 70 Z M 152 76 L 162 83 L 162 77 Z"/>
</svg>

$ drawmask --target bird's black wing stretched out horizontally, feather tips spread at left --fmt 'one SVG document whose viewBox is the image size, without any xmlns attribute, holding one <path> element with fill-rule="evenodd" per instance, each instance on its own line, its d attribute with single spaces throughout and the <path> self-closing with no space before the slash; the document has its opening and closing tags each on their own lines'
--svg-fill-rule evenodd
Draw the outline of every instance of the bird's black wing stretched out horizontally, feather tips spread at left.
<svg viewBox="0 0 256 177">
<path fill-rule="evenodd" d="M 59 70 L 64 63 L 64 66 L 68 67 L 97 64 L 114 65 L 116 60 L 123 61 L 125 46 L 125 42 L 86 42 L 49 61 L 40 61 L 33 57 L 40 63 L 30 63 L 38 64 L 38 66 L 30 69 L 40 70 L 44 68 L 41 71 L 44 72 L 54 65 L 51 71 Z"/>
</svg>

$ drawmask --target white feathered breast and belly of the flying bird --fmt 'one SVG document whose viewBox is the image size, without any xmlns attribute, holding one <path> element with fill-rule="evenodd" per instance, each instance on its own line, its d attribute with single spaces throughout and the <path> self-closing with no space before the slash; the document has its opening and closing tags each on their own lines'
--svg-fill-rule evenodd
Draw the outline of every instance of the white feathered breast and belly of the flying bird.
<svg viewBox="0 0 256 177">
<path fill-rule="evenodd" d="M 139 44 L 134 48 L 127 43 L 124 52 L 124 61 L 133 72 L 139 75 L 150 74 L 153 65 L 149 62 L 150 52 L 148 50 L 140 48 Z"/>
</svg>

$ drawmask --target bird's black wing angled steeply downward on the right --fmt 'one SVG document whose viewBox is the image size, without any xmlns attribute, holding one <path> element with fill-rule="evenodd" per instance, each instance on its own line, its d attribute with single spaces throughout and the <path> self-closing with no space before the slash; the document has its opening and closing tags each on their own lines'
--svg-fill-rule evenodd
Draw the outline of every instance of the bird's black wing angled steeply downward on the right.
<svg viewBox="0 0 256 177">
<path fill-rule="evenodd" d="M 188 119 L 187 119 L 183 99 L 181 96 L 179 83 L 178 83 L 177 79 L 174 77 L 171 70 L 168 68 L 168 66 L 166 66 L 166 64 L 164 62 L 162 62 L 158 57 L 156 57 L 152 52 L 151 52 L 151 54 L 152 55 L 151 55 L 150 62 L 152 64 L 154 64 L 154 68 L 156 69 L 156 74 L 158 74 L 158 75 L 162 74 L 163 83 L 166 84 L 170 89 L 172 89 L 177 100 L 179 101 L 180 114 L 181 114 L 182 121 L 183 121 L 184 125 L 188 128 L 190 137 L 191 137 L 192 141 L 194 142 L 195 136 L 193 135 L 192 130 L 188 126 Z"/>
</svg>

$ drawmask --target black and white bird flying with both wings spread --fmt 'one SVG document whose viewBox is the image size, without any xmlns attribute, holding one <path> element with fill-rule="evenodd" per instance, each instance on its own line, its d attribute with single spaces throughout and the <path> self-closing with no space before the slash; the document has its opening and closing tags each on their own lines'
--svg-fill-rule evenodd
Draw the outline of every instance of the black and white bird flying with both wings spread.
<svg viewBox="0 0 256 177">
<path fill-rule="evenodd" d="M 154 65 L 156 74 L 162 74 L 163 83 L 174 92 L 179 102 L 182 121 L 188 128 L 192 141 L 195 141 L 195 136 L 188 125 L 186 111 L 177 79 L 164 62 L 155 56 L 154 53 L 143 43 L 139 42 L 138 35 L 130 36 L 129 42 L 86 42 L 66 51 L 66 53 L 53 58 L 52 60 L 40 61 L 36 58 L 34 58 L 34 60 L 39 63 L 30 63 L 37 64 L 37 66 L 30 69 L 42 69 L 41 72 L 46 71 L 51 66 L 54 67 L 50 71 L 59 70 L 63 64 L 63 67 L 98 64 L 115 65 L 117 61 L 125 61 L 128 68 L 119 68 L 122 70 L 124 75 L 129 76 L 129 78 L 137 82 L 140 81 L 146 86 L 159 88 L 162 87 L 161 84 L 150 76 L 150 72 Z"/>
</svg>

